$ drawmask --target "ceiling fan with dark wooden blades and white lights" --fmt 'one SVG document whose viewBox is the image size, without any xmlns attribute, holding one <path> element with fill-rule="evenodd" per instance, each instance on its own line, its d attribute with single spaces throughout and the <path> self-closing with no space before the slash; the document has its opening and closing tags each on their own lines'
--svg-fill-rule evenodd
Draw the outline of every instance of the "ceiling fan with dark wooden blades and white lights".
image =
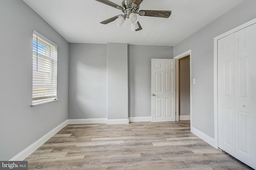
<svg viewBox="0 0 256 170">
<path fill-rule="evenodd" d="M 121 5 L 115 4 L 114 2 L 111 2 L 109 0 L 96 0 L 96 1 L 106 4 L 108 6 L 112 6 L 114 8 L 117 8 L 118 10 L 122 10 L 122 12 L 124 13 L 122 15 L 114 16 L 100 23 L 107 24 L 112 21 L 116 21 L 117 25 L 121 27 L 125 19 L 129 18 L 132 31 L 142 30 L 142 27 L 138 22 L 138 16 L 136 14 L 139 14 L 140 16 L 169 18 L 172 13 L 172 11 L 158 11 L 158 10 L 140 10 L 139 11 L 140 4 L 142 3 L 143 0 L 123 0 Z"/>
</svg>

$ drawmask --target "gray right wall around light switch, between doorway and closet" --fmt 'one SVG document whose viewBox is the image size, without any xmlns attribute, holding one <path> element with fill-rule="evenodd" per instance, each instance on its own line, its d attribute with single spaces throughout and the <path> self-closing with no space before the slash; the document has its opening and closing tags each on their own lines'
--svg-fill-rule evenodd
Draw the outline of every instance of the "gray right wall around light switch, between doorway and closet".
<svg viewBox="0 0 256 170">
<path fill-rule="evenodd" d="M 174 46 L 174 56 L 192 50 L 192 126 L 214 138 L 214 37 L 256 18 L 256 0 L 245 0 Z"/>
</svg>

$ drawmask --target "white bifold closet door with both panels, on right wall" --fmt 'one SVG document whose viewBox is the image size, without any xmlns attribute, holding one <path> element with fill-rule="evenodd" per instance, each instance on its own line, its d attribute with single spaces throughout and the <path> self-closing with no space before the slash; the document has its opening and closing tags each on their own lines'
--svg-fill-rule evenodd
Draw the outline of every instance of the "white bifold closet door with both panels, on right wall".
<svg viewBox="0 0 256 170">
<path fill-rule="evenodd" d="M 256 24 L 218 40 L 218 146 L 256 168 Z"/>
</svg>

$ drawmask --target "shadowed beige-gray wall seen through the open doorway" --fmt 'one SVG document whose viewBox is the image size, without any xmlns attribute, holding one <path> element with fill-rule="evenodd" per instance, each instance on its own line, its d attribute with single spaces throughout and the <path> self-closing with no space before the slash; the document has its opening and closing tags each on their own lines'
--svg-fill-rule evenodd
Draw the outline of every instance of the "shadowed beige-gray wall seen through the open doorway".
<svg viewBox="0 0 256 170">
<path fill-rule="evenodd" d="M 190 56 L 179 59 L 179 114 L 190 115 Z"/>
</svg>

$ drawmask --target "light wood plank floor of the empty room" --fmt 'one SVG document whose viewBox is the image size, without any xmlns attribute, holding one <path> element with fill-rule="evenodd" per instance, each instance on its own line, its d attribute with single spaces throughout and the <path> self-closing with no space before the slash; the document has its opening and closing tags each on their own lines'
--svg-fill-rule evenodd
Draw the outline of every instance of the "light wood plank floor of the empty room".
<svg viewBox="0 0 256 170">
<path fill-rule="evenodd" d="M 47 170 L 252 169 L 192 134 L 189 121 L 67 125 L 25 160 Z"/>
</svg>

